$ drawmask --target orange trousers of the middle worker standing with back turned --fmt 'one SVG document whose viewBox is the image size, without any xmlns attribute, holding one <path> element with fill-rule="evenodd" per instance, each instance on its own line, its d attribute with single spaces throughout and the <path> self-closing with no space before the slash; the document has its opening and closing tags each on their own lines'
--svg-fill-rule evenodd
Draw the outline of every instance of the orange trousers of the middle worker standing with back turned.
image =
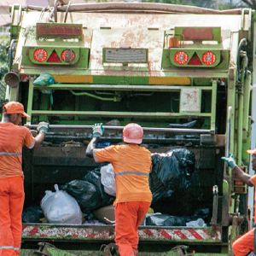
<svg viewBox="0 0 256 256">
<path fill-rule="evenodd" d="M 138 235 L 137 228 L 148 212 L 150 202 L 121 202 L 114 208 L 115 243 L 119 247 L 120 256 L 136 256 Z"/>
</svg>

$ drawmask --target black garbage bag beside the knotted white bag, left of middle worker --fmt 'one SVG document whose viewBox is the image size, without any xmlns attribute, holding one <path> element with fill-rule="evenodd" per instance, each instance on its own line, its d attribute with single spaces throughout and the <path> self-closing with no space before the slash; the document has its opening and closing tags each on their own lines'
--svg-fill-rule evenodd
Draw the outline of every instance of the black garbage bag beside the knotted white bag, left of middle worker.
<svg viewBox="0 0 256 256">
<path fill-rule="evenodd" d="M 66 190 L 68 194 L 72 195 L 84 213 L 102 206 L 101 192 L 92 183 L 76 179 L 60 186 L 60 189 Z"/>
</svg>

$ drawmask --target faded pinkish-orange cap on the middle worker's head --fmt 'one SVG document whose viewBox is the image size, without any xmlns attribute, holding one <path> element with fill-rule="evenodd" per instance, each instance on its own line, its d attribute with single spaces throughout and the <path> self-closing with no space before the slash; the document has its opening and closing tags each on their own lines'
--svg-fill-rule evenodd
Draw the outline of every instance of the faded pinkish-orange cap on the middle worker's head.
<svg viewBox="0 0 256 256">
<path fill-rule="evenodd" d="M 141 144 L 143 142 L 143 128 L 141 125 L 128 124 L 123 130 L 123 140 L 125 143 Z"/>
</svg>

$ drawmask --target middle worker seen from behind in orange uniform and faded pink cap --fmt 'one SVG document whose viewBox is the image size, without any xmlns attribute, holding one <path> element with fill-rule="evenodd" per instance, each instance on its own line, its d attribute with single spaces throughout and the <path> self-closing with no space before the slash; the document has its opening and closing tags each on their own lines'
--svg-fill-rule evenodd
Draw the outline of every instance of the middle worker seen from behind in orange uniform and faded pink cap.
<svg viewBox="0 0 256 256">
<path fill-rule="evenodd" d="M 140 147 L 143 142 L 143 128 L 128 124 L 123 129 L 125 144 L 96 148 L 104 128 L 102 124 L 92 127 L 93 137 L 86 149 L 86 155 L 96 162 L 108 161 L 113 166 L 116 185 L 116 199 L 113 202 L 115 214 L 115 244 L 120 256 L 137 255 L 137 228 L 148 212 L 152 201 L 148 177 L 151 172 L 151 153 Z"/>
</svg>

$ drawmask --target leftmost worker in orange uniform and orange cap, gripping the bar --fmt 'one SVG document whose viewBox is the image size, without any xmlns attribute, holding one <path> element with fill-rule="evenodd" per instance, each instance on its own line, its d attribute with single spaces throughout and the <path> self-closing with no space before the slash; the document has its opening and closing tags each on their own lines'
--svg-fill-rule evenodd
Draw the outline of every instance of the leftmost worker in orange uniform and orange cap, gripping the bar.
<svg viewBox="0 0 256 256">
<path fill-rule="evenodd" d="M 48 123 L 38 125 L 37 137 L 20 126 L 21 118 L 29 115 L 19 102 L 8 102 L 3 106 L 0 123 L 0 255 L 20 255 L 22 221 L 21 214 L 25 198 L 21 169 L 22 147 L 36 148 L 43 142 Z"/>
</svg>

